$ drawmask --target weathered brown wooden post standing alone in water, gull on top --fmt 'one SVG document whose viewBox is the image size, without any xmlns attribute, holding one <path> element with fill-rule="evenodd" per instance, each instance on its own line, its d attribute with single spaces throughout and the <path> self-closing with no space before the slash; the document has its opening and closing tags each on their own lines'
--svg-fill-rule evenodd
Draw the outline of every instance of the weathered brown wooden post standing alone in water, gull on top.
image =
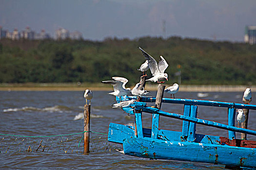
<svg viewBox="0 0 256 170">
<path fill-rule="evenodd" d="M 90 144 L 90 114 L 91 114 L 91 105 L 84 105 L 83 112 L 83 122 L 84 122 L 84 145 L 83 153 L 89 153 L 89 144 Z"/>
</svg>

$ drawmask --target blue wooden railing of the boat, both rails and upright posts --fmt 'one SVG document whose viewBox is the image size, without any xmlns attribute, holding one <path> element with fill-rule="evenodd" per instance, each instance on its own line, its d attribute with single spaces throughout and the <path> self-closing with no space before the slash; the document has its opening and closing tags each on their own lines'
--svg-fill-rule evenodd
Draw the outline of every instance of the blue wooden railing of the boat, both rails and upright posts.
<svg viewBox="0 0 256 170">
<path fill-rule="evenodd" d="M 122 101 L 136 99 L 134 96 L 123 96 L 121 98 Z M 117 97 L 117 101 L 119 102 L 119 98 Z M 174 119 L 183 120 L 182 125 L 182 136 L 186 136 L 189 141 L 195 141 L 196 139 L 196 124 L 202 124 L 206 126 L 216 127 L 219 129 L 228 130 L 229 139 L 236 139 L 236 132 L 254 135 L 256 136 L 256 131 L 244 128 L 235 127 L 235 117 L 236 117 L 236 109 L 251 109 L 256 110 L 256 105 L 253 104 L 241 104 L 235 102 L 217 102 L 217 101 L 206 101 L 206 100 L 192 100 L 192 99 L 170 99 L 170 98 L 162 98 L 162 102 L 164 103 L 177 103 L 184 104 L 184 112 L 183 115 L 177 113 L 169 113 L 159 110 L 158 108 L 148 107 L 146 106 L 146 102 L 156 102 L 156 98 L 154 97 L 142 97 L 140 102 L 135 102 L 131 105 L 131 107 L 123 108 L 123 110 L 129 114 L 135 115 L 136 125 L 138 137 L 143 137 L 142 131 L 142 117 L 141 113 L 151 113 L 152 117 L 152 132 L 151 137 L 158 137 L 158 123 L 159 116 L 170 117 Z M 228 108 L 228 125 L 218 123 L 215 121 L 198 119 L 197 118 L 197 108 L 199 105 L 202 106 L 214 106 L 214 107 L 226 107 Z M 134 111 L 137 110 L 137 111 Z"/>
</svg>

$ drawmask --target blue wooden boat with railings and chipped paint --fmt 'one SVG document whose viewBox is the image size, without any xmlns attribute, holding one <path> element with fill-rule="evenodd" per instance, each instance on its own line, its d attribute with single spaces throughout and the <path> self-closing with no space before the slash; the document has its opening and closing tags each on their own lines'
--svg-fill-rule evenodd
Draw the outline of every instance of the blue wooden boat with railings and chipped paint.
<svg viewBox="0 0 256 170">
<path fill-rule="evenodd" d="M 122 101 L 132 99 L 136 97 L 121 97 Z M 122 144 L 124 154 L 149 159 L 256 167 L 256 141 L 236 138 L 236 132 L 256 136 L 256 131 L 235 127 L 236 109 L 256 110 L 256 105 L 163 98 L 162 102 L 184 105 L 184 113 L 176 114 L 147 106 L 148 102 L 156 102 L 156 98 L 142 97 L 140 101 L 123 108 L 128 114 L 135 115 L 136 127 L 116 123 L 109 125 L 108 141 Z M 119 102 L 118 97 L 117 102 Z M 228 124 L 197 119 L 197 107 L 200 105 L 228 108 Z M 152 114 L 152 129 L 142 127 L 142 113 Z M 182 132 L 159 129 L 159 116 L 183 120 Z M 197 134 L 197 124 L 225 129 L 228 131 L 228 137 Z M 137 136 L 135 136 L 135 128 L 137 128 Z"/>
</svg>

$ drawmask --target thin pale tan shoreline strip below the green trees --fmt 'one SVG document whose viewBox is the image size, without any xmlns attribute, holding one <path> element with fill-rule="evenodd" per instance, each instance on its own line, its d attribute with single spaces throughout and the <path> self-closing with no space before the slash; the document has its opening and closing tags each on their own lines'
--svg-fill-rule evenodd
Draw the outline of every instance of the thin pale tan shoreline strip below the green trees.
<svg viewBox="0 0 256 170">
<path fill-rule="evenodd" d="M 165 86 L 170 86 L 164 84 Z M 256 85 L 180 85 L 182 92 L 243 92 L 250 87 L 254 92 Z M 111 85 L 89 84 L 89 83 L 26 83 L 26 84 L 0 84 L 0 91 L 84 91 L 91 89 L 94 91 L 112 91 Z M 145 89 L 156 91 L 158 85 L 146 85 Z"/>
</svg>

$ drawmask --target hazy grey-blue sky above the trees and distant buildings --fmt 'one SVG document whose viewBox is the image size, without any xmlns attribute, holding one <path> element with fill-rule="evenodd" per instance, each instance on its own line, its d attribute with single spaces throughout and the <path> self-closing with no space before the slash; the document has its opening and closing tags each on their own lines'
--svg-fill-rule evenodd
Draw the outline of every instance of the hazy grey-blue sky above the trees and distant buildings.
<svg viewBox="0 0 256 170">
<path fill-rule="evenodd" d="M 246 25 L 256 25 L 256 0 L 0 0 L 4 30 L 29 26 L 55 36 L 64 28 L 90 40 L 181 36 L 241 42 Z"/>
</svg>

